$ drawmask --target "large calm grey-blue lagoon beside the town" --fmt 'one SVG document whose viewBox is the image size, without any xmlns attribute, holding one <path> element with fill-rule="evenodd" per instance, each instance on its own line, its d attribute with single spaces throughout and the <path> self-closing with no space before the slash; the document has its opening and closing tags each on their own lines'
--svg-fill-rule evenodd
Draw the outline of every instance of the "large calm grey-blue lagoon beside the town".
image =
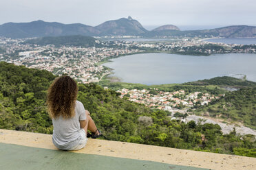
<svg viewBox="0 0 256 170">
<path fill-rule="evenodd" d="M 172 84 L 224 75 L 246 75 L 256 82 L 256 54 L 230 53 L 213 56 L 183 56 L 142 53 L 115 58 L 103 65 L 114 69 L 122 82 Z"/>
</svg>

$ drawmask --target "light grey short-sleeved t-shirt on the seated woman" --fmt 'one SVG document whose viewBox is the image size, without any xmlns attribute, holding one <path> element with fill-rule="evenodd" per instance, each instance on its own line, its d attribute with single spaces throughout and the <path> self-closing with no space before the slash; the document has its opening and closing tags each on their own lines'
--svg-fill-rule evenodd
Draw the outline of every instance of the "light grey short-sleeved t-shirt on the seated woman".
<svg viewBox="0 0 256 170">
<path fill-rule="evenodd" d="M 52 142 L 58 149 L 68 150 L 78 145 L 81 139 L 79 121 L 86 120 L 86 115 L 85 108 L 80 101 L 76 101 L 75 113 L 71 119 L 63 119 L 63 117 L 52 119 L 54 126 Z"/>
</svg>

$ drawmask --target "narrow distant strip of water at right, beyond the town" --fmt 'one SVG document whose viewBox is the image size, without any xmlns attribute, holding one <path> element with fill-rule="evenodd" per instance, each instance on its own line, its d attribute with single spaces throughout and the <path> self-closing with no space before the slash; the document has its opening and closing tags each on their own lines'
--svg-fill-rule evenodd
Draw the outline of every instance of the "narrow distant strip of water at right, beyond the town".
<svg viewBox="0 0 256 170">
<path fill-rule="evenodd" d="M 237 44 L 237 45 L 253 45 L 256 44 L 256 38 L 215 38 L 205 40 L 209 42 L 222 42 L 226 44 Z"/>
</svg>

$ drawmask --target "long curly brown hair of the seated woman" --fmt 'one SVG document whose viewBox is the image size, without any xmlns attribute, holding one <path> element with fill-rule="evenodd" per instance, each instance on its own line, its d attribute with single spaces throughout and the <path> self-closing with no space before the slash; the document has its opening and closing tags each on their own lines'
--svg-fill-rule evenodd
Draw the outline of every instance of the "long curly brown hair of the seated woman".
<svg viewBox="0 0 256 170">
<path fill-rule="evenodd" d="M 57 77 L 48 88 L 47 108 L 51 118 L 62 116 L 70 119 L 74 116 L 78 86 L 76 82 L 67 75 Z"/>
</svg>

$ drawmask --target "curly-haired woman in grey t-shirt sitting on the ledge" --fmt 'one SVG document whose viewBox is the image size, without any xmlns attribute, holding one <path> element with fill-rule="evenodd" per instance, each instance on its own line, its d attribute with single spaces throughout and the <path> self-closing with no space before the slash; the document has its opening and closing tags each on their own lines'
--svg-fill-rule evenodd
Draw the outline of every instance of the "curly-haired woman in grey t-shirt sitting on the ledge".
<svg viewBox="0 0 256 170">
<path fill-rule="evenodd" d="M 54 126 L 52 142 L 58 149 L 82 149 L 88 136 L 101 136 L 89 112 L 76 100 L 77 93 L 78 86 L 70 76 L 57 77 L 48 89 L 47 107 Z"/>
</svg>

